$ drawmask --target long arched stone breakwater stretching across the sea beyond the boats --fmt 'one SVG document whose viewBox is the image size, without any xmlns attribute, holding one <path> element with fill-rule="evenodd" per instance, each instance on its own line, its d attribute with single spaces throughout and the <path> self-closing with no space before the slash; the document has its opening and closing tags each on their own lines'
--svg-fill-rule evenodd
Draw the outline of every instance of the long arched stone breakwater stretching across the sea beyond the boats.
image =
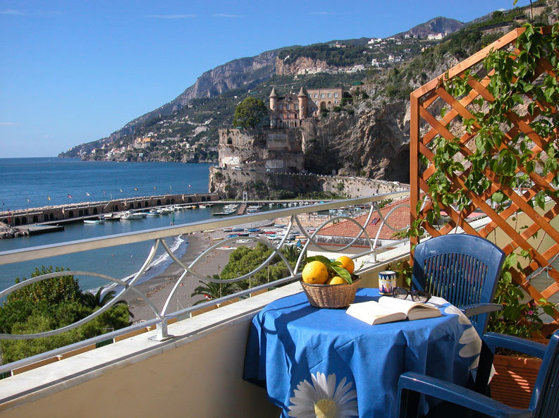
<svg viewBox="0 0 559 418">
<path fill-rule="evenodd" d="M 0 222 L 7 226 L 18 227 L 31 223 L 56 223 L 57 221 L 78 221 L 87 216 L 109 214 L 125 210 L 149 209 L 168 204 L 188 204 L 218 200 L 214 193 L 196 193 L 194 195 L 157 195 L 113 199 L 104 202 L 80 202 L 61 204 L 32 209 L 0 212 Z"/>
</svg>

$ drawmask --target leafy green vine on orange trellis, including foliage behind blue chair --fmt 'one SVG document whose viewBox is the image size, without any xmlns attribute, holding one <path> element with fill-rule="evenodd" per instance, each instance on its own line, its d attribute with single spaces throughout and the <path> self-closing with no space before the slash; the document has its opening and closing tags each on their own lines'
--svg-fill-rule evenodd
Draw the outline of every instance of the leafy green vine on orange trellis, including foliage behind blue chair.
<svg viewBox="0 0 559 418">
<path fill-rule="evenodd" d="M 477 208 L 491 217 L 479 235 L 508 230 L 510 245 L 503 247 L 508 262 L 496 294 L 505 309 L 493 314 L 491 328 L 526 336 L 541 329 L 542 312 L 559 318 L 556 307 L 529 284 L 532 273 L 550 267 L 558 251 L 540 254 L 539 244 L 527 241 L 541 244 L 541 237 L 551 234 L 559 245 L 548 225 L 559 214 L 559 26 L 525 25 L 514 44 L 495 45 L 483 61 L 471 59 L 463 64 L 467 70 L 447 73 L 419 99 L 428 124 L 419 143 L 419 186 L 425 194 L 408 235 L 449 233 L 458 226 L 477 233 L 467 223 Z M 440 109 L 440 116 L 428 108 Z M 546 209 L 549 201 L 555 203 L 552 209 Z M 522 211 L 533 224 L 518 224 Z M 548 271 L 559 283 L 559 272 Z M 522 302 L 521 284 L 534 300 Z"/>
</svg>

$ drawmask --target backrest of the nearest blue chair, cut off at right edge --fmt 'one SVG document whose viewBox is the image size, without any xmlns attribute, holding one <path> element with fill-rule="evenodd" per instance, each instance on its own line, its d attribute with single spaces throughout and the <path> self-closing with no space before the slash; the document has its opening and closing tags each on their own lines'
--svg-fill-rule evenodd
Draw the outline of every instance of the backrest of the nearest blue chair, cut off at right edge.
<svg viewBox="0 0 559 418">
<path fill-rule="evenodd" d="M 559 417 L 559 331 L 549 340 L 529 409 L 534 411 L 534 418 Z"/>
</svg>

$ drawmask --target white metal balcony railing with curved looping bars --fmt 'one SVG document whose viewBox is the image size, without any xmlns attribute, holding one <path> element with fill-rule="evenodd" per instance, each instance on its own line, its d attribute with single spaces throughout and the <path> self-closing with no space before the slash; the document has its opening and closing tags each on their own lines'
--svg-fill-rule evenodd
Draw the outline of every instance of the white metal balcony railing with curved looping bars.
<svg viewBox="0 0 559 418">
<path fill-rule="evenodd" d="M 336 249 L 335 252 L 341 252 L 343 250 L 348 249 L 348 247 L 351 247 L 358 239 L 362 238 L 362 235 L 364 235 L 367 238 L 367 242 L 369 242 L 369 248 L 367 250 L 364 250 L 363 252 L 360 252 L 360 254 L 355 254 L 353 257 L 357 258 L 357 257 L 363 257 L 364 255 L 367 255 L 367 254 L 374 254 L 374 257 L 375 257 L 375 260 L 376 260 L 376 253 L 381 252 L 383 250 L 386 250 L 386 247 L 388 247 L 388 246 L 377 247 L 377 241 L 378 241 L 378 238 L 379 238 L 380 229 L 383 228 L 383 226 L 387 226 L 388 228 L 391 228 L 392 230 L 396 230 L 395 228 L 390 226 L 390 224 L 388 224 L 388 217 L 393 212 L 393 210 L 391 210 L 387 214 L 387 216 L 383 216 L 381 214 L 381 212 L 379 211 L 379 209 L 377 208 L 377 203 L 381 202 L 383 200 L 386 200 L 386 199 L 400 199 L 401 197 L 405 197 L 407 195 L 409 195 L 409 190 L 404 190 L 404 191 L 400 191 L 400 192 L 383 193 L 383 194 L 374 195 L 374 196 L 371 196 L 371 197 L 360 197 L 360 198 L 355 198 L 355 199 L 336 200 L 336 201 L 328 202 L 328 203 L 313 204 L 313 205 L 300 206 L 300 207 L 294 207 L 294 208 L 289 208 L 289 209 L 279 209 L 279 210 L 275 210 L 275 211 L 266 211 L 266 212 L 260 212 L 260 213 L 257 213 L 257 214 L 247 214 L 247 215 L 242 215 L 242 216 L 233 216 L 231 218 L 222 218 L 222 219 L 219 219 L 217 221 L 214 221 L 214 220 L 198 221 L 198 222 L 188 223 L 188 224 L 181 225 L 181 226 L 171 226 L 171 227 L 164 227 L 164 228 L 156 228 L 156 229 L 152 229 L 152 230 L 142 230 L 142 231 L 139 231 L 139 232 L 124 233 L 124 234 L 119 234 L 119 235 L 110 235 L 110 236 L 106 236 L 106 237 L 91 238 L 91 239 L 87 239 L 87 240 L 62 242 L 62 243 L 59 243 L 59 244 L 45 245 L 45 246 L 42 246 L 42 247 L 30 247 L 30 248 L 27 248 L 27 249 L 24 249 L 24 250 L 12 250 L 12 251 L 0 252 L 0 266 L 1 266 L 1 265 L 4 265 L 4 264 L 12 264 L 12 263 L 17 263 L 17 262 L 30 261 L 30 260 L 41 259 L 41 258 L 45 258 L 45 257 L 55 257 L 55 256 L 63 255 L 63 254 L 73 254 L 73 253 L 76 253 L 76 252 L 84 252 L 84 251 L 88 251 L 88 250 L 97 250 L 99 248 L 113 247 L 113 246 L 116 246 L 116 245 L 130 244 L 130 243 L 133 243 L 133 242 L 142 242 L 142 241 L 154 240 L 154 244 L 152 245 L 151 249 L 149 250 L 149 253 L 147 254 L 145 262 L 142 264 L 142 267 L 140 268 L 140 270 L 137 271 L 137 273 L 135 273 L 133 278 L 130 279 L 130 281 L 125 282 L 125 281 L 123 281 L 119 278 L 114 278 L 114 277 L 108 276 L 106 274 L 95 273 L 95 272 L 92 272 L 92 271 L 58 271 L 58 272 L 53 272 L 53 273 L 47 273 L 47 274 L 44 274 L 42 276 L 37 276 L 37 277 L 34 277 L 34 278 L 29 278 L 25 281 L 17 283 L 16 285 L 11 286 L 10 288 L 7 288 L 6 290 L 1 291 L 0 292 L 0 299 L 6 297 L 10 293 L 13 293 L 14 291 L 16 291 L 20 288 L 23 288 L 26 285 L 36 283 L 37 281 L 42 281 L 42 280 L 47 279 L 47 278 L 53 278 L 53 277 L 58 277 L 58 276 L 71 276 L 71 275 L 74 275 L 74 276 L 92 276 L 92 277 L 102 278 L 106 281 L 109 281 L 109 282 L 112 282 L 112 283 L 117 283 L 118 285 L 121 285 L 121 287 L 122 287 L 122 290 L 120 291 L 120 293 L 118 293 L 115 297 L 113 297 L 113 299 L 109 303 L 107 303 L 106 305 L 104 305 L 103 307 L 98 309 L 97 311 L 93 312 L 89 316 L 85 317 L 84 319 L 81 319 L 80 321 L 77 321 L 77 322 L 75 322 L 73 324 L 70 324 L 68 326 L 63 326 L 63 327 L 58 328 L 56 330 L 46 331 L 46 332 L 42 332 L 42 333 L 20 334 L 20 335 L 0 333 L 0 340 L 2 340 L 2 339 L 4 339 L 4 340 L 14 340 L 14 339 L 41 338 L 41 337 L 53 336 L 53 335 L 56 335 L 56 334 L 59 334 L 59 333 L 63 333 L 64 331 L 68 331 L 72 328 L 76 328 L 77 326 L 85 324 L 87 321 L 91 321 L 96 316 L 99 316 L 103 312 L 106 312 L 107 309 L 110 309 L 114 304 L 116 304 L 116 302 L 118 300 L 123 300 L 125 297 L 130 296 L 130 295 L 135 295 L 136 297 L 140 297 L 142 300 L 144 300 L 147 303 L 147 305 L 152 309 L 152 311 L 154 312 L 154 315 L 155 315 L 154 319 L 144 321 L 140 324 L 134 324 L 134 325 L 128 326 L 126 328 L 121 328 L 121 329 L 118 329 L 116 331 L 112 331 L 112 332 L 109 332 L 109 333 L 104 333 L 101 336 L 97 336 L 97 337 L 94 337 L 94 338 L 90 338 L 88 340 L 80 341 L 80 342 L 74 343 L 72 345 L 67 345 L 66 347 L 57 348 L 57 349 L 51 350 L 49 352 L 44 352 L 44 353 L 39 354 L 39 355 L 35 355 L 35 356 L 32 356 L 32 357 L 27 357 L 26 359 L 18 360 L 17 362 L 1 365 L 0 366 L 0 374 L 5 373 L 6 371 L 10 371 L 11 369 L 16 369 L 18 367 L 23 367 L 23 366 L 25 366 L 27 364 L 31 364 L 33 362 L 37 362 L 41 359 L 54 357 L 56 355 L 61 355 L 64 352 L 69 352 L 71 350 L 76 350 L 78 348 L 82 348 L 82 347 L 85 347 L 87 345 L 92 345 L 94 343 L 99 343 L 99 342 L 102 342 L 102 341 L 105 341 L 105 340 L 109 340 L 109 339 L 115 338 L 117 336 L 122 336 L 124 334 L 128 334 L 130 332 L 136 331 L 137 329 L 145 328 L 147 326 L 156 325 L 157 332 L 156 332 L 156 338 L 154 338 L 154 339 L 156 339 L 156 340 L 166 340 L 168 338 L 171 338 L 172 336 L 169 336 L 168 333 L 167 333 L 167 324 L 168 324 L 169 319 L 178 318 L 179 316 L 185 316 L 187 314 L 190 314 L 191 312 L 197 311 L 199 309 L 203 309 L 204 307 L 211 307 L 213 305 L 218 305 L 222 302 L 226 302 L 227 300 L 231 300 L 231 299 L 236 298 L 236 297 L 247 296 L 250 293 L 256 293 L 259 290 L 264 290 L 266 288 L 271 288 L 271 287 L 280 285 L 282 283 L 287 283 L 289 281 L 293 281 L 297 278 L 300 278 L 300 273 L 297 273 L 297 271 L 299 270 L 299 266 L 300 266 L 301 262 L 303 261 L 303 259 L 305 257 L 305 254 L 307 253 L 307 249 L 309 248 L 309 245 L 314 245 L 314 247 L 317 247 L 320 250 L 331 251 L 331 249 L 325 249 L 324 247 L 321 247 L 321 245 L 317 242 L 315 237 L 317 235 L 319 235 L 320 230 L 322 228 L 324 228 L 324 226 L 328 225 L 328 223 L 333 223 L 334 221 L 348 219 L 349 221 L 352 221 L 353 223 L 355 223 L 360 228 L 360 233 L 358 233 L 355 238 L 353 238 L 347 245 L 344 245 L 343 247 L 338 247 L 338 249 Z M 316 230 L 314 230 L 313 233 L 309 234 L 307 232 L 307 230 L 302 226 L 302 224 L 300 222 L 300 219 L 298 218 L 298 216 L 300 216 L 301 214 L 309 214 L 309 213 L 316 212 L 316 211 L 327 211 L 328 209 L 339 209 L 340 207 L 346 207 L 348 205 L 362 205 L 362 204 L 370 205 L 369 214 L 367 216 L 367 221 L 364 223 L 364 226 L 361 226 L 360 223 L 355 221 L 355 219 L 350 218 L 349 216 L 334 216 L 334 217 L 324 221 L 324 223 L 321 223 L 321 225 L 318 226 L 316 228 Z M 403 204 L 400 204 L 400 205 L 398 205 L 398 207 L 402 206 L 402 205 Z M 404 204 L 404 205 L 407 205 L 407 204 Z M 379 233 L 377 233 L 376 238 L 374 238 L 374 240 L 371 240 L 371 238 L 367 234 L 367 231 L 365 230 L 365 227 L 369 224 L 369 221 L 371 220 L 371 216 L 375 213 L 379 214 L 382 222 L 381 222 L 381 226 L 380 226 L 380 229 L 379 229 Z M 176 257 L 176 255 L 173 254 L 171 249 L 168 247 L 166 242 L 164 241 L 164 238 L 173 237 L 173 236 L 177 236 L 177 235 L 182 235 L 182 234 L 186 234 L 186 233 L 195 233 L 195 232 L 201 232 L 203 230 L 216 229 L 216 228 L 227 228 L 227 227 L 246 224 L 246 223 L 256 223 L 256 222 L 259 222 L 259 221 L 276 219 L 276 218 L 279 218 L 279 217 L 284 217 L 285 218 L 286 216 L 288 216 L 290 218 L 290 221 L 288 223 L 285 235 L 283 236 L 283 239 L 281 239 L 281 241 L 279 243 L 274 245 L 273 243 L 269 242 L 269 240 L 265 240 L 265 239 L 259 238 L 259 237 L 251 237 L 252 240 L 254 240 L 256 242 L 262 242 L 262 244 L 269 247 L 272 250 L 270 256 L 266 260 L 264 260 L 264 262 L 262 262 L 262 264 L 260 264 L 253 271 L 250 271 L 249 273 L 247 273 L 245 275 L 242 275 L 242 276 L 239 276 L 237 278 L 232 278 L 232 279 L 228 279 L 228 280 L 215 279 L 215 278 L 211 278 L 209 276 L 201 276 L 199 273 L 197 273 L 195 271 L 194 268 L 200 260 L 204 259 L 204 257 L 207 254 L 209 254 L 209 252 L 214 250 L 216 247 L 218 247 L 220 245 L 225 245 L 227 242 L 238 240 L 238 238 L 228 238 L 226 240 L 219 241 L 214 245 L 211 245 L 209 248 L 207 248 L 207 250 L 204 250 L 204 252 L 202 252 L 202 254 L 200 254 L 194 261 L 192 261 L 188 265 L 184 264 L 180 259 L 178 259 Z M 289 233 L 295 225 L 297 225 L 297 227 L 299 228 L 300 233 L 305 235 L 305 237 L 307 238 L 307 242 L 302 247 L 302 250 L 300 252 L 300 256 L 297 259 L 295 267 L 292 267 L 289 264 L 288 260 L 285 258 L 285 256 L 280 252 L 280 250 L 281 250 L 281 248 L 283 248 L 287 244 Z M 398 240 L 397 242 L 391 242 L 391 244 L 389 246 L 392 247 L 396 243 L 404 242 L 404 241 L 405 241 L 405 239 L 404 240 Z M 161 310 L 158 310 L 154 306 L 154 304 L 149 300 L 149 297 L 147 297 L 147 295 L 145 295 L 140 290 L 138 290 L 138 288 L 135 285 L 137 284 L 138 280 L 142 277 L 143 273 L 145 273 L 145 271 L 147 271 L 147 268 L 148 268 L 149 264 L 151 264 L 152 260 L 154 259 L 156 251 L 158 250 L 160 245 L 168 253 L 169 257 L 171 257 L 171 259 L 173 259 L 173 261 L 176 262 L 180 266 L 180 268 L 182 269 L 183 272 L 180 274 L 180 277 L 178 278 L 175 285 L 173 286 L 173 289 L 171 290 L 171 293 L 169 293 L 169 295 L 166 299 L 166 302 L 164 303 L 164 306 L 161 308 Z M 183 283 L 185 281 L 185 279 L 187 278 L 188 275 L 192 275 L 194 278 L 197 278 L 199 280 L 206 281 L 206 282 L 235 283 L 235 282 L 238 282 L 238 281 L 245 280 L 246 278 L 249 278 L 250 276 L 257 273 L 258 271 L 261 271 L 262 269 L 264 269 L 266 267 L 266 265 L 269 264 L 269 262 L 271 262 L 272 259 L 274 259 L 274 257 L 280 257 L 282 259 L 282 261 L 285 263 L 285 266 L 287 266 L 287 268 L 288 268 L 289 276 L 287 276 L 285 278 L 281 278 L 281 279 L 276 280 L 276 281 L 272 281 L 270 283 L 265 283 L 264 285 L 258 285 L 258 286 L 255 286 L 253 288 L 249 288 L 247 290 L 242 290 L 240 292 L 233 293 L 232 295 L 227 295 L 225 297 L 220 297 L 219 299 L 209 300 L 209 301 L 207 301 L 207 302 L 205 302 L 204 304 L 201 304 L 201 305 L 187 307 L 185 309 L 180 309 L 176 312 L 167 312 L 168 307 L 169 307 L 169 303 L 173 299 L 173 296 L 175 295 L 176 291 L 178 290 L 178 287 L 181 285 L 181 283 Z"/>
</svg>

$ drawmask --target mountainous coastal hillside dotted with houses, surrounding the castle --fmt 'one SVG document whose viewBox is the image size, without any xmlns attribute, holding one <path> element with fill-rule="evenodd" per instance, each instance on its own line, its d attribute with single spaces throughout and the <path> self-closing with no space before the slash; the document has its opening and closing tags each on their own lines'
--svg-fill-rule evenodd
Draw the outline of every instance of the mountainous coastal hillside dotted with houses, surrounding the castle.
<svg viewBox="0 0 559 418">
<path fill-rule="evenodd" d="M 249 164 L 247 168 L 253 170 L 335 172 L 405 183 L 407 173 L 402 167 L 409 153 L 406 115 L 410 92 L 469 51 L 522 25 L 528 13 L 527 8 L 496 11 L 468 24 L 439 17 L 384 39 L 333 40 L 234 60 L 202 74 L 195 85 L 172 102 L 130 121 L 109 137 L 78 145 L 60 156 L 112 161 L 207 161 L 222 168 L 235 166 L 234 159 L 226 160 L 238 156 L 238 164 Z M 544 2 L 534 2 L 533 13 L 536 21 L 544 22 Z M 331 100 L 324 103 L 324 108 L 321 102 L 314 101 L 320 99 L 314 97 L 314 90 L 322 94 L 319 91 L 333 88 L 338 89 L 337 93 L 331 93 L 338 97 L 328 97 L 326 93 L 326 99 Z M 233 141 L 235 135 L 220 130 L 232 132 L 235 128 L 235 107 L 246 97 L 268 103 L 273 89 L 278 102 L 276 109 L 269 109 L 270 127 L 296 128 L 288 134 L 274 134 L 279 135 L 274 146 L 284 140 L 299 142 L 297 161 L 286 157 L 283 163 L 273 162 L 283 158 L 278 156 L 278 149 L 269 149 L 266 155 L 257 151 L 253 156 L 226 151 L 227 145 L 233 145 L 226 141 Z M 305 118 L 300 114 L 297 93 L 302 89 L 309 100 Z M 280 104 L 285 107 L 280 109 Z M 285 114 L 279 116 L 278 112 Z M 235 141 L 270 147 L 271 142 L 263 138 Z M 289 148 L 293 154 L 295 148 Z M 262 162 L 258 168 L 247 162 L 257 154 Z"/>
</svg>

